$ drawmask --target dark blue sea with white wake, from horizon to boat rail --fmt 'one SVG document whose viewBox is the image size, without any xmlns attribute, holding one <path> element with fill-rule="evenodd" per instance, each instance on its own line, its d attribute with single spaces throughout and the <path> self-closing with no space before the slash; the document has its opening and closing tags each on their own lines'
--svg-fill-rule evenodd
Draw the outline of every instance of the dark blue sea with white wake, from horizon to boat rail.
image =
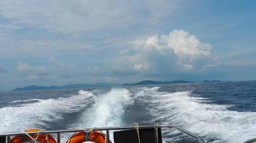
<svg viewBox="0 0 256 143">
<path fill-rule="evenodd" d="M 206 142 L 256 137 L 256 82 L 0 92 L 0 132 L 174 124 Z M 64 134 L 65 142 L 70 134 Z M 164 142 L 196 142 L 163 130 Z"/>
</svg>

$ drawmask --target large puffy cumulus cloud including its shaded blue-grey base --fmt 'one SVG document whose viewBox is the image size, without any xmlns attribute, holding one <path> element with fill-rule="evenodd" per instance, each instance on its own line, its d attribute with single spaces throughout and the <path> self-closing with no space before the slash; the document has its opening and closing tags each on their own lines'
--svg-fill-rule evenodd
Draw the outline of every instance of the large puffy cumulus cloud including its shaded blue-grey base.
<svg viewBox="0 0 256 143">
<path fill-rule="evenodd" d="M 144 76 L 172 76 L 188 70 L 210 69 L 216 59 L 211 54 L 211 44 L 188 31 L 174 30 L 132 41 L 116 62 L 115 67 L 119 69 L 137 71 Z"/>
</svg>

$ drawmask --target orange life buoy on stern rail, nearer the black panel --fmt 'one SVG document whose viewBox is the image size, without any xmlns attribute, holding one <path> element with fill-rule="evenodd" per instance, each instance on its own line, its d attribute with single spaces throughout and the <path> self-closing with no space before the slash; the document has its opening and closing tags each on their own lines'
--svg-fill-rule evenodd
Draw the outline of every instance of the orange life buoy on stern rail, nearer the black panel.
<svg viewBox="0 0 256 143">
<path fill-rule="evenodd" d="M 77 132 L 73 134 L 66 143 L 82 143 L 86 141 L 96 142 L 96 143 L 106 143 L 105 135 L 99 131 L 91 131 L 86 134 L 86 132 Z M 110 141 L 108 143 L 111 143 Z"/>
</svg>

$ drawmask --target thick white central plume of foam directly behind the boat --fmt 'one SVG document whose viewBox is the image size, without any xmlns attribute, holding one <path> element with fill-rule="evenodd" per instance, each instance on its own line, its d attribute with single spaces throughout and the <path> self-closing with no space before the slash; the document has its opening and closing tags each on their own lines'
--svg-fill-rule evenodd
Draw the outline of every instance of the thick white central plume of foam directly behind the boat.
<svg viewBox="0 0 256 143">
<path fill-rule="evenodd" d="M 132 103 L 131 93 L 127 89 L 111 89 L 96 97 L 96 104 L 87 109 L 81 120 L 73 127 L 112 127 L 123 125 L 123 114 L 127 104 Z"/>
</svg>

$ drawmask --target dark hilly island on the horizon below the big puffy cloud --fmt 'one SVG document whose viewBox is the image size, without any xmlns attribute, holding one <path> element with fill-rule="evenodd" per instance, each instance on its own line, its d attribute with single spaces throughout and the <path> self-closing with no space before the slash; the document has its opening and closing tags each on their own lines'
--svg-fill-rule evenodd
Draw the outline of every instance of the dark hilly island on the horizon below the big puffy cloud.
<svg viewBox="0 0 256 143">
<path fill-rule="evenodd" d="M 150 85 L 150 84 L 187 84 L 187 83 L 194 83 L 194 82 L 188 82 L 188 81 L 183 81 L 183 80 L 175 80 L 175 81 L 167 81 L 167 82 L 157 82 L 157 81 L 145 80 L 145 81 L 137 82 L 137 83 L 134 83 L 134 84 L 124 84 L 124 86 Z"/>
</svg>

